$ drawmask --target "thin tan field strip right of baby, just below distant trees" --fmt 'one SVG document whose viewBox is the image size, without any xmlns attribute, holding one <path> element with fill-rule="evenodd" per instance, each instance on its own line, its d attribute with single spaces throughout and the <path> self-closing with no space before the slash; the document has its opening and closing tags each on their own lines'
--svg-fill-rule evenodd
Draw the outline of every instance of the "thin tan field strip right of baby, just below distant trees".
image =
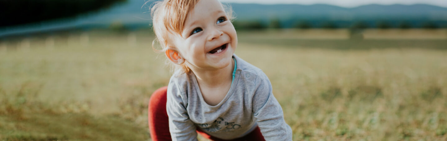
<svg viewBox="0 0 447 141">
<path fill-rule="evenodd" d="M 447 40 L 447 29 L 365 29 L 362 33 L 365 39 Z M 350 38 L 349 34 L 346 29 L 272 29 L 241 32 L 238 36 L 256 40 L 346 40 Z"/>
</svg>

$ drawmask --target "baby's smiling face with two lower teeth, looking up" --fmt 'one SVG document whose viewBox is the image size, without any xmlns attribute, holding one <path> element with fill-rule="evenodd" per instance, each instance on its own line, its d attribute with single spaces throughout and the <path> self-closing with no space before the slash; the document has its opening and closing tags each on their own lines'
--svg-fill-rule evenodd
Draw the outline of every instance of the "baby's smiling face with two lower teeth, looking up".
<svg viewBox="0 0 447 141">
<path fill-rule="evenodd" d="M 236 30 L 217 0 L 200 0 L 175 40 L 186 65 L 205 70 L 231 64 L 237 46 Z"/>
</svg>

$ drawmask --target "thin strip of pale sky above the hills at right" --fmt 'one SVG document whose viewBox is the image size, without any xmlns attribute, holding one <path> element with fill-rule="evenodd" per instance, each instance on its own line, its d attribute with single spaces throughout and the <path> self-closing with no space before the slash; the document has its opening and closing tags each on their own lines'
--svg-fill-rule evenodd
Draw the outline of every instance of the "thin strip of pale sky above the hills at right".
<svg viewBox="0 0 447 141">
<path fill-rule="evenodd" d="M 430 4 L 447 7 L 447 0 L 220 0 L 221 2 L 257 3 L 257 4 L 330 4 L 346 8 L 367 4 Z"/>
</svg>

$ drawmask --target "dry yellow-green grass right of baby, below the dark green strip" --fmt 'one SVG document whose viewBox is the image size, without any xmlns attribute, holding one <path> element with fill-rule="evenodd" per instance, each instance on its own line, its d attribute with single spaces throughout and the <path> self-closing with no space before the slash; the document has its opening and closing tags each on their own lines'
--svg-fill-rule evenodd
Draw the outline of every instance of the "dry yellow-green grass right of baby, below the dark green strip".
<svg viewBox="0 0 447 141">
<path fill-rule="evenodd" d="M 294 140 L 447 137 L 445 51 L 247 49 L 240 57 L 269 76 Z"/>
</svg>

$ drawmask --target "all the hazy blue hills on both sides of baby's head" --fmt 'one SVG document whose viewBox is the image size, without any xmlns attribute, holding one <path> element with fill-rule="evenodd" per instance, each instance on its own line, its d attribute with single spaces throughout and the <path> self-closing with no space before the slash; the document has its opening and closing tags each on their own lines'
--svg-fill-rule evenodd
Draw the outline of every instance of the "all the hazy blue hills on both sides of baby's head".
<svg viewBox="0 0 447 141">
<path fill-rule="evenodd" d="M 44 32 L 64 28 L 108 28 L 112 23 L 122 24 L 130 30 L 149 28 L 151 23 L 149 6 L 144 0 L 127 0 L 121 5 L 100 12 L 83 14 L 76 18 L 52 20 L 21 27 L 0 28 L 0 36 L 27 32 Z M 320 28 L 330 22 L 336 28 L 346 28 L 362 21 L 366 27 L 375 28 L 379 21 L 389 23 L 391 27 L 407 22 L 409 27 L 423 27 L 431 22 L 434 27 L 447 27 L 447 8 L 426 5 L 364 5 L 355 8 L 342 8 L 327 4 L 230 4 L 236 14 L 236 21 L 259 21 L 264 25 L 278 20 L 282 28 L 294 27 L 297 23 L 307 22 L 311 28 Z M 146 12 L 146 13 L 143 13 Z"/>
</svg>

